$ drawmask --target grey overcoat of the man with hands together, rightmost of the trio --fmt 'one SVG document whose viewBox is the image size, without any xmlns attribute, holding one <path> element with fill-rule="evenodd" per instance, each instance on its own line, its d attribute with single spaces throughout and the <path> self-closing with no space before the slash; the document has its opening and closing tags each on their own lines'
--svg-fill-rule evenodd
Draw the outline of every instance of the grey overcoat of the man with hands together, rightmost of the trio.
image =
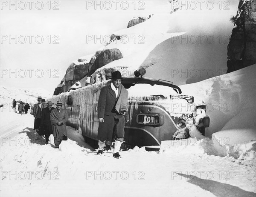
<svg viewBox="0 0 256 197">
<path fill-rule="evenodd" d="M 67 110 L 61 109 L 60 112 L 58 112 L 58 109 L 55 108 L 50 113 L 50 120 L 52 124 L 52 131 L 53 136 L 57 139 L 62 140 L 63 136 L 67 136 L 67 129 L 66 129 L 66 122 L 67 122 Z M 62 122 L 61 126 L 58 126 L 58 122 Z"/>
</svg>

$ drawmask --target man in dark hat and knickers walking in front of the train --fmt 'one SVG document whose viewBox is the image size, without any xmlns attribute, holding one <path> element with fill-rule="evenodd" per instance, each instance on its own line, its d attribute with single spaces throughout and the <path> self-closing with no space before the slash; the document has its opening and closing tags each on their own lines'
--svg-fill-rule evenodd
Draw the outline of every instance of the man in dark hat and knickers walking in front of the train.
<svg viewBox="0 0 256 197">
<path fill-rule="evenodd" d="M 111 83 L 103 87 L 98 102 L 98 140 L 97 155 L 103 153 L 107 141 L 115 140 L 113 157 L 119 159 L 119 150 L 124 139 L 125 123 L 129 121 L 128 91 L 121 84 L 121 73 L 114 71 Z"/>
</svg>

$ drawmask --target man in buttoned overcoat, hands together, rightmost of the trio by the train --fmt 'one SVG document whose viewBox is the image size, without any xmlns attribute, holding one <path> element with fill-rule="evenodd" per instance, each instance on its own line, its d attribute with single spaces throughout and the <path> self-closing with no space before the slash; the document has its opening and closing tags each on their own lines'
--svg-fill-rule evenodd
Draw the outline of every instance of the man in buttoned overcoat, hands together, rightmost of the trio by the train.
<svg viewBox="0 0 256 197">
<path fill-rule="evenodd" d="M 57 107 L 50 113 L 50 120 L 54 136 L 55 148 L 59 148 L 61 141 L 67 140 L 67 110 L 61 108 L 61 101 L 57 101 L 56 106 Z"/>
</svg>

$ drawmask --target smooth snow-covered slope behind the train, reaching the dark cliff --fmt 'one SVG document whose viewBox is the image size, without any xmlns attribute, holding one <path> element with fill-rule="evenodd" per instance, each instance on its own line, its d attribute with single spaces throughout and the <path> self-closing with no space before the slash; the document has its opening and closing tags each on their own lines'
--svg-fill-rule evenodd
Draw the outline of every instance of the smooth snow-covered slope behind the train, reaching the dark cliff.
<svg viewBox="0 0 256 197">
<path fill-rule="evenodd" d="M 127 77 L 133 75 L 135 69 L 144 67 L 147 70 L 145 77 L 157 76 L 177 85 L 226 73 L 227 44 L 233 29 L 229 20 L 236 14 L 233 8 L 239 0 L 233 1 L 229 9 L 219 9 L 218 2 L 213 1 L 206 1 L 201 7 L 197 3 L 196 9 L 191 9 L 189 3 L 170 14 L 171 9 L 184 5 L 184 2 L 171 4 L 166 1 L 162 13 L 128 29 L 113 32 L 121 39 L 101 50 L 117 48 L 123 58 L 108 63 L 96 73 L 103 75 L 104 80 L 105 69 L 115 68 Z M 212 9 L 207 9 L 209 3 L 213 3 Z"/>
</svg>

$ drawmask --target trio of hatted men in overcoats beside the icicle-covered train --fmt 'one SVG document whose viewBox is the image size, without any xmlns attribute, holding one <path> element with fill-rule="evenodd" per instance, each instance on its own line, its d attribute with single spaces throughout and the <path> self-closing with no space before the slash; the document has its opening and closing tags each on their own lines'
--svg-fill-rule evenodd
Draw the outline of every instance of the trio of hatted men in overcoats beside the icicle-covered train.
<svg viewBox="0 0 256 197">
<path fill-rule="evenodd" d="M 62 140 L 67 140 L 67 110 L 61 108 L 61 101 L 57 101 L 56 108 L 52 107 L 53 103 L 48 101 L 42 103 L 42 97 L 38 97 L 38 103 L 33 106 L 35 140 L 38 135 L 45 135 L 45 143 L 49 143 L 51 134 L 54 136 L 55 148 L 59 148 Z"/>
</svg>

